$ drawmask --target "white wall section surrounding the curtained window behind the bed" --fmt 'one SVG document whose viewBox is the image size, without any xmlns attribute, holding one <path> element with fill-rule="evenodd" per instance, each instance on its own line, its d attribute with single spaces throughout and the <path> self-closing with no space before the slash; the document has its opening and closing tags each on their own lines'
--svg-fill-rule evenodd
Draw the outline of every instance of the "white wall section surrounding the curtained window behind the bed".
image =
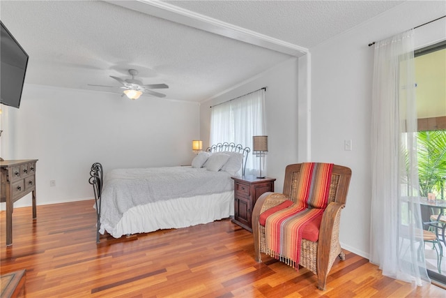
<svg viewBox="0 0 446 298">
<path fill-rule="evenodd" d="M 298 59 L 291 58 L 220 96 L 201 103 L 203 147 L 209 144 L 210 106 L 266 87 L 266 176 L 276 178 L 275 191 L 282 191 L 285 167 L 298 162 Z M 251 147 L 252 144 L 243 144 Z M 250 154 L 252 158 L 252 154 Z M 254 156 L 255 158 L 255 156 Z"/>
</svg>

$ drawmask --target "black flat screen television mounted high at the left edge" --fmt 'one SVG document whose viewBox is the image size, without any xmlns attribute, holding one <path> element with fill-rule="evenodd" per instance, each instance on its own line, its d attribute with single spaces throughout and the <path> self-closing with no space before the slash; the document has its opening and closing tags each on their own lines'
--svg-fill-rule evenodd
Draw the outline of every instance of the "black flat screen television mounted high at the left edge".
<svg viewBox="0 0 446 298">
<path fill-rule="evenodd" d="M 29 56 L 3 22 L 0 24 L 0 103 L 18 109 Z"/>
</svg>

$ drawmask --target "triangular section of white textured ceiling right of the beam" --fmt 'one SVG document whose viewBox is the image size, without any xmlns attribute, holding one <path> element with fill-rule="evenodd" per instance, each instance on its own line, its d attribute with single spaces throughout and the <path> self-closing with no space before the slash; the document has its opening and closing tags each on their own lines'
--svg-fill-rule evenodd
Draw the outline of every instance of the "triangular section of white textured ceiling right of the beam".
<svg viewBox="0 0 446 298">
<path fill-rule="evenodd" d="M 280 40 L 313 47 L 403 1 L 166 1 Z"/>
</svg>

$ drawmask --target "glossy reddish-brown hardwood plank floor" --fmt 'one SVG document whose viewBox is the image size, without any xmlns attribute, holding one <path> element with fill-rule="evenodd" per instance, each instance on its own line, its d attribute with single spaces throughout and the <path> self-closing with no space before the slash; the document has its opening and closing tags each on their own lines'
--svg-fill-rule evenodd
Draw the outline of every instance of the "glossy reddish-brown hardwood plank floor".
<svg viewBox="0 0 446 298">
<path fill-rule="evenodd" d="M 26 269 L 27 297 L 446 297 L 435 285 L 411 288 L 354 253 L 337 260 L 327 290 L 316 276 L 268 256 L 254 261 L 252 234 L 229 220 L 95 244 L 93 200 L 13 214 L 6 248 L 1 211 L 1 274 Z"/>
</svg>

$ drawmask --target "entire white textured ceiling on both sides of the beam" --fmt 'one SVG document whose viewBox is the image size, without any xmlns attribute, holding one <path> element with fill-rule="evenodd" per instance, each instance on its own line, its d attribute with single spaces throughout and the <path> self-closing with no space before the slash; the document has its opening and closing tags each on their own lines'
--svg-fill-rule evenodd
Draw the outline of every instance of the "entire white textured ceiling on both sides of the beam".
<svg viewBox="0 0 446 298">
<path fill-rule="evenodd" d="M 135 68 L 144 84 L 168 84 L 167 98 L 199 102 L 291 58 L 113 3 L 0 1 L 2 22 L 30 56 L 25 82 L 120 93 L 109 75 L 125 78 Z M 401 1 L 169 3 L 312 47 Z"/>
</svg>

